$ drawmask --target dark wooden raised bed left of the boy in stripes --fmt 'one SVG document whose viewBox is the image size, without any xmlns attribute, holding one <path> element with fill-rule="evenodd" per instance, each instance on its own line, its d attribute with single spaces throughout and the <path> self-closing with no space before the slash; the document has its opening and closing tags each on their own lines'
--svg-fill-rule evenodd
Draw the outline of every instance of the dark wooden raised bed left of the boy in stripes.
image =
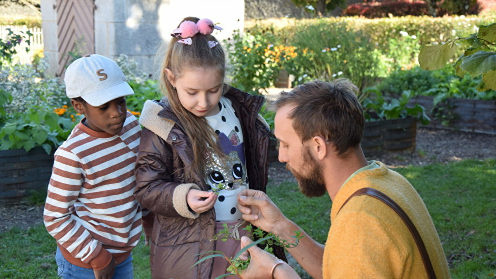
<svg viewBox="0 0 496 279">
<path fill-rule="evenodd" d="M 12 204 L 32 190 L 46 190 L 52 174 L 54 154 L 41 147 L 0 150 L 0 204 Z"/>
</svg>

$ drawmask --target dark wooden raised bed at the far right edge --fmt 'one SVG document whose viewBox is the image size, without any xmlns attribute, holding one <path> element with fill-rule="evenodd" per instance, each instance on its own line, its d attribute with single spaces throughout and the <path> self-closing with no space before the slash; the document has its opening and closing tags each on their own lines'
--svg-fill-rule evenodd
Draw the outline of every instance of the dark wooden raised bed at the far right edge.
<svg viewBox="0 0 496 279">
<path fill-rule="evenodd" d="M 496 135 L 496 101 L 448 98 L 447 102 L 454 114 L 450 126 L 434 119 L 432 96 L 416 96 L 410 100 L 411 104 L 418 103 L 426 108 L 431 118 L 427 127 Z"/>
</svg>

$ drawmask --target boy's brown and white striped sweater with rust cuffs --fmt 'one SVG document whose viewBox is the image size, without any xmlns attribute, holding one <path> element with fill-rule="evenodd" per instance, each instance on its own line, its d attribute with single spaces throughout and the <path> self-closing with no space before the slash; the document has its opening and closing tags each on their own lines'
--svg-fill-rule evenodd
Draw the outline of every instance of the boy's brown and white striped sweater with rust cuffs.
<svg viewBox="0 0 496 279">
<path fill-rule="evenodd" d="M 141 128 L 127 113 L 118 135 L 81 123 L 55 152 L 43 212 L 64 258 L 101 270 L 124 261 L 141 235 L 141 209 L 133 197 Z"/>
</svg>

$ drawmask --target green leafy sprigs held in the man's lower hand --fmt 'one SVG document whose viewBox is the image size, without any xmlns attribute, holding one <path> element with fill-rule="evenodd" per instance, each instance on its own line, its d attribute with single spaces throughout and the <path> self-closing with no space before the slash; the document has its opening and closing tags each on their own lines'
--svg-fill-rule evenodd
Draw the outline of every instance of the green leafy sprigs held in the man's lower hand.
<svg viewBox="0 0 496 279">
<path fill-rule="evenodd" d="M 210 241 L 218 241 L 218 240 L 227 241 L 229 238 L 239 240 L 239 238 L 235 238 L 231 234 L 231 231 L 233 229 L 237 229 L 236 227 L 237 227 L 236 225 L 234 227 L 229 227 L 226 223 L 224 223 L 223 229 L 218 231 L 217 234 L 214 235 L 214 237 Z M 300 239 L 302 239 L 304 237 L 304 235 L 302 235 L 301 231 L 295 231 L 295 235 L 292 236 L 295 239 L 295 242 L 294 243 L 288 243 L 287 240 L 285 240 L 285 239 L 281 240 L 277 235 L 273 234 L 272 232 L 267 233 L 260 228 L 253 229 L 251 224 L 248 224 L 244 228 L 244 230 L 248 231 L 248 233 L 251 235 L 252 239 L 254 238 L 257 240 L 254 241 L 253 243 L 250 243 L 249 245 L 245 246 L 233 258 L 229 258 L 222 251 L 208 251 L 208 252 L 198 254 L 198 255 L 206 255 L 206 254 L 211 254 L 211 255 L 208 255 L 208 256 L 201 258 L 193 266 L 195 266 L 195 265 L 197 265 L 197 264 L 199 264 L 205 260 L 214 258 L 214 257 L 222 257 L 229 263 L 229 267 L 226 270 L 229 273 L 221 275 L 221 276 L 217 277 L 216 279 L 220 279 L 220 278 L 223 278 L 223 277 L 226 277 L 229 275 L 236 275 L 239 278 L 243 279 L 243 277 L 241 276 L 241 273 L 248 267 L 249 259 L 248 260 L 240 260 L 239 257 L 241 256 L 241 254 L 243 254 L 243 252 L 248 250 L 250 247 L 252 247 L 254 245 L 263 246 L 264 251 L 267 251 L 267 252 L 273 254 L 273 250 L 272 250 L 271 246 L 276 245 L 276 246 L 280 246 L 280 247 L 284 247 L 284 248 L 293 248 L 293 247 L 296 247 L 298 245 L 298 243 L 300 242 Z"/>
</svg>

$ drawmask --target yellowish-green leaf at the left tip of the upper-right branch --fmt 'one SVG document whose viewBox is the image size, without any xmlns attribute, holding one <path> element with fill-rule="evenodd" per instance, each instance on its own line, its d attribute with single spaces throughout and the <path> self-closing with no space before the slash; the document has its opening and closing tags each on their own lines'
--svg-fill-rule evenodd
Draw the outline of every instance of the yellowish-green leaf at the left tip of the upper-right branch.
<svg viewBox="0 0 496 279">
<path fill-rule="evenodd" d="M 419 54 L 419 64 L 424 70 L 441 69 L 456 53 L 456 44 L 448 41 L 442 45 L 423 46 Z"/>
</svg>

